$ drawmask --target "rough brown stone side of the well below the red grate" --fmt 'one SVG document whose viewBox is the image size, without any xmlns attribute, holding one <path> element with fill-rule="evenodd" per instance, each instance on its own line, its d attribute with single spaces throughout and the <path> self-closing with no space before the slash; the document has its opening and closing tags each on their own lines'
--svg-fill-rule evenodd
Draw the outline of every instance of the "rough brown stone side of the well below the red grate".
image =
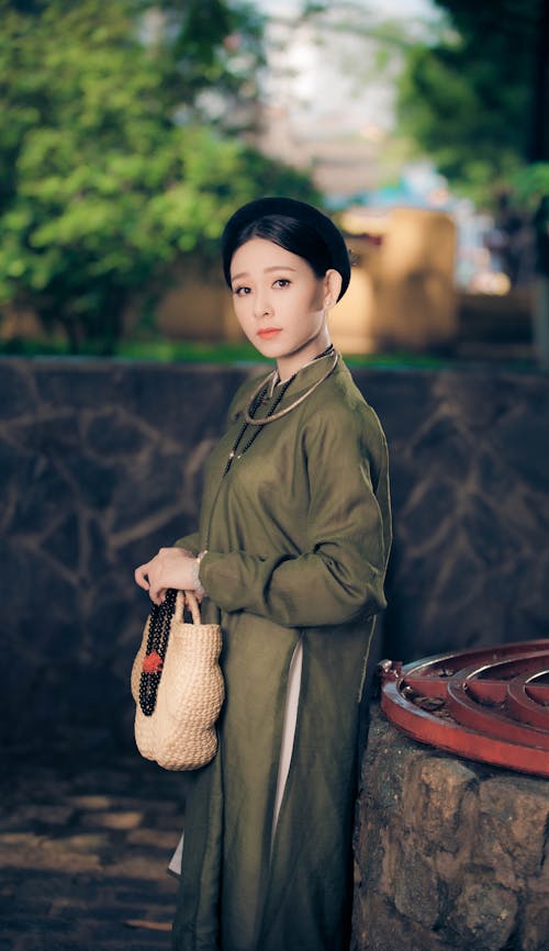
<svg viewBox="0 0 549 951">
<path fill-rule="evenodd" d="M 354 951 L 549 951 L 549 783 L 423 747 L 371 713 Z"/>
</svg>

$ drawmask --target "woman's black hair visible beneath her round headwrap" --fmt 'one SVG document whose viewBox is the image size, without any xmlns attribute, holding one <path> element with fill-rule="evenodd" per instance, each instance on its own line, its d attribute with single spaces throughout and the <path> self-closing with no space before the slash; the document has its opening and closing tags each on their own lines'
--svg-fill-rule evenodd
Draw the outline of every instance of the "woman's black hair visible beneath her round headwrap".
<svg viewBox="0 0 549 951">
<path fill-rule="evenodd" d="M 285 214 L 266 214 L 245 225 L 234 236 L 231 258 L 246 242 L 265 238 L 303 258 L 317 278 L 323 278 L 332 265 L 332 255 L 321 235 L 311 225 Z"/>
</svg>

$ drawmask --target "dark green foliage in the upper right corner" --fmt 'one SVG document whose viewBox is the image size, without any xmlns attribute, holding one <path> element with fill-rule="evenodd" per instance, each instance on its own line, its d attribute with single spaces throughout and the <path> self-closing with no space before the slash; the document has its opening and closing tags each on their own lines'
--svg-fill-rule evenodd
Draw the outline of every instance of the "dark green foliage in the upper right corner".
<svg viewBox="0 0 549 951">
<path fill-rule="evenodd" d="M 528 158 L 542 3 L 438 0 L 448 13 L 438 42 L 407 54 L 402 127 L 474 198 L 490 197 Z"/>
</svg>

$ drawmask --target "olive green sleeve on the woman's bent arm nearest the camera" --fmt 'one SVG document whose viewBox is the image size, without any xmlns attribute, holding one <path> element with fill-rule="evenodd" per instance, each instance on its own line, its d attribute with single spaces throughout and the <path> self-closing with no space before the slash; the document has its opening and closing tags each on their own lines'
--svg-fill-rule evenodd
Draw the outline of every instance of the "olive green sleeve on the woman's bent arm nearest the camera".
<svg viewBox="0 0 549 951">
<path fill-rule="evenodd" d="M 310 497 L 301 553 L 262 558 L 209 551 L 200 580 L 222 609 L 247 611 L 283 626 L 373 615 L 385 606 L 391 538 L 381 427 L 369 407 L 350 414 L 347 407 L 328 406 L 309 419 L 303 444 Z"/>
</svg>

